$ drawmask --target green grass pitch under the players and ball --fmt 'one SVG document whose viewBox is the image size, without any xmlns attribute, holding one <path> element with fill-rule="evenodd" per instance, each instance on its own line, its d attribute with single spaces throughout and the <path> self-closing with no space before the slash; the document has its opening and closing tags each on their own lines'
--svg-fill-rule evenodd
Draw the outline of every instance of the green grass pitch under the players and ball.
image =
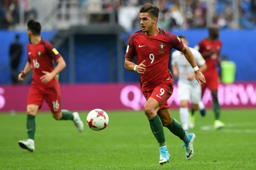
<svg viewBox="0 0 256 170">
<path fill-rule="evenodd" d="M 253 170 L 256 169 L 256 109 L 223 109 L 222 130 L 213 130 L 213 112 L 196 113 L 194 156 L 185 158 L 183 142 L 165 128 L 170 162 L 159 165 L 158 143 L 143 111 L 108 111 L 109 124 L 93 131 L 80 112 L 84 131 L 72 121 L 36 115 L 35 152 L 18 145 L 26 139 L 26 114 L 0 114 L 1 170 Z M 178 110 L 171 110 L 179 120 Z"/>
</svg>

